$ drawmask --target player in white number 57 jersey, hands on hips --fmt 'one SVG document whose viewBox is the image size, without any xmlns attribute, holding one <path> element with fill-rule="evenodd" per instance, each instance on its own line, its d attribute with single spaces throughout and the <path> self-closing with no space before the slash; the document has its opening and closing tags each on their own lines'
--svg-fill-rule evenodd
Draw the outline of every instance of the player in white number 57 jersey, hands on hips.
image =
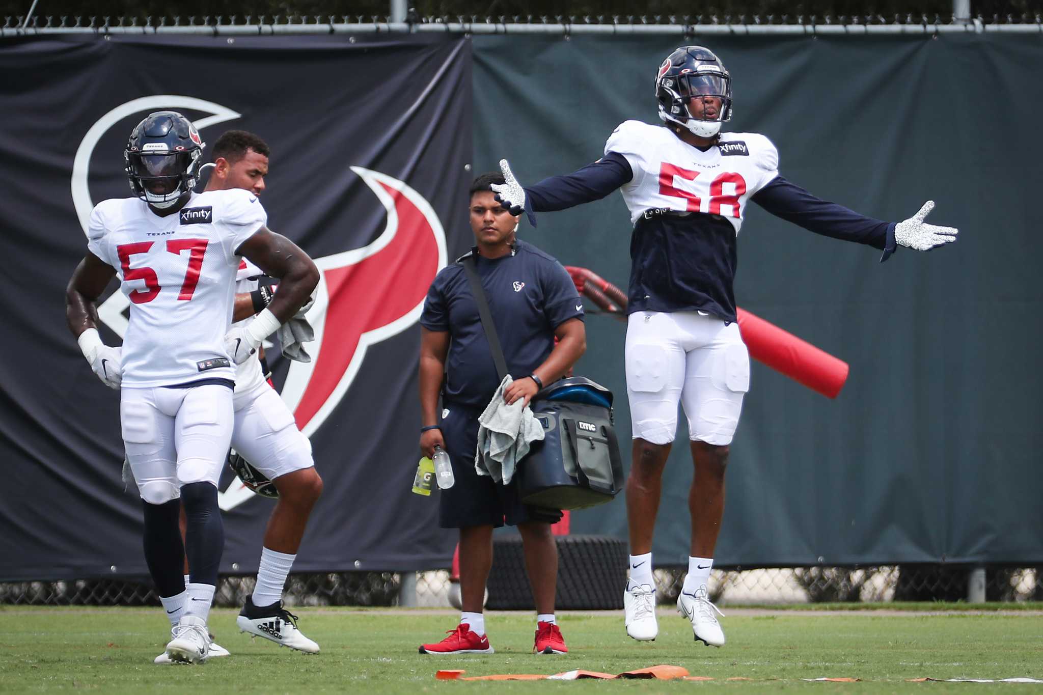
<svg viewBox="0 0 1043 695">
<path fill-rule="evenodd" d="M 164 607 L 179 616 L 166 651 L 185 663 L 209 656 L 207 619 L 224 545 L 217 481 L 232 440 L 235 365 L 308 301 L 319 278 L 304 251 L 268 230 L 257 196 L 193 193 L 202 147 L 176 111 L 151 114 L 135 127 L 124 158 L 136 195 L 95 206 L 88 253 L 66 293 L 69 328 L 88 363 L 106 386 L 121 389 L 145 560 Z M 281 278 L 281 288 L 249 325 L 229 329 L 243 256 Z M 117 275 L 130 300 L 121 348 L 102 344 L 95 305 Z M 188 516 L 184 545 L 179 499 Z"/>
</svg>

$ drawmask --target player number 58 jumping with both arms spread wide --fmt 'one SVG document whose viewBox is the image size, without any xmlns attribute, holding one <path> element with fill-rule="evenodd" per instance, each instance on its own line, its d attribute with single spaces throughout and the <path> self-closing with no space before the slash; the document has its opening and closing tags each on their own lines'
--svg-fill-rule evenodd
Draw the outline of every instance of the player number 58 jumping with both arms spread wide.
<svg viewBox="0 0 1043 695">
<path fill-rule="evenodd" d="M 757 133 L 723 133 L 731 118 L 731 77 L 711 51 L 683 46 L 660 64 L 655 80 L 663 125 L 626 121 L 604 156 L 565 176 L 523 188 L 506 160 L 506 183 L 493 189 L 519 214 L 557 210 L 622 190 L 634 225 L 628 292 L 627 396 L 633 457 L 627 481 L 630 579 L 624 594 L 627 634 L 654 640 L 652 536 L 662 470 L 677 430 L 677 405 L 688 420 L 695 476 L 688 495 L 692 545 L 678 597 L 697 641 L 722 646 L 724 632 L 706 584 L 724 515 L 728 447 L 749 388 L 746 346 L 735 323 L 735 241 L 753 201 L 810 231 L 881 249 L 926 251 L 955 240 L 956 229 L 924 223 L 933 207 L 898 223 L 830 203 L 778 173 L 778 151 Z"/>
</svg>

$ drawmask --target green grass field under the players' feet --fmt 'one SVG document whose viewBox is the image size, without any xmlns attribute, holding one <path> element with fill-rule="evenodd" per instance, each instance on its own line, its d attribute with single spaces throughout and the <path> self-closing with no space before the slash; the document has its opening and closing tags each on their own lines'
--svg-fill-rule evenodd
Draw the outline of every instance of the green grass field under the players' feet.
<svg viewBox="0 0 1043 695">
<path fill-rule="evenodd" d="M 827 606 L 828 607 L 828 606 Z M 840 607 L 840 606 L 832 606 Z M 693 642 L 686 622 L 659 615 L 659 639 L 626 637 L 620 613 L 565 613 L 559 623 L 571 652 L 530 652 L 534 616 L 491 612 L 486 618 L 496 653 L 434 657 L 417 653 L 440 639 L 456 614 L 427 610 L 299 609 L 300 627 L 322 648 L 305 655 L 240 635 L 234 611 L 217 610 L 211 628 L 233 652 L 201 666 L 152 665 L 169 635 L 159 609 L 0 607 L 0 692 L 94 690 L 105 693 L 609 693 L 680 692 L 725 688 L 785 688 L 815 692 L 956 691 L 978 688 L 1033 691 L 1043 685 L 906 682 L 906 678 L 1043 678 L 1043 614 L 1020 611 L 919 612 L 732 610 L 722 624 L 722 649 Z M 933 611 L 924 612 L 930 607 Z M 1003 606 L 1013 607 L 1013 606 Z M 1024 606 L 1018 606 L 1023 609 Z M 672 664 L 709 681 L 580 680 L 572 682 L 439 681 L 440 668 L 467 675 L 555 673 L 586 669 L 617 673 Z M 862 682 L 804 682 L 852 677 Z M 744 677 L 753 680 L 728 680 Z"/>
</svg>

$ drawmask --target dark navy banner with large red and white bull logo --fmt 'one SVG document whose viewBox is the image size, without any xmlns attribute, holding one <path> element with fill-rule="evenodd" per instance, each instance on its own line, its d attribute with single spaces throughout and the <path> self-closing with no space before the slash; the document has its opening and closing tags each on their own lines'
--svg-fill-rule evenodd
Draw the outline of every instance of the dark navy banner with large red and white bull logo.
<svg viewBox="0 0 1043 695">
<path fill-rule="evenodd" d="M 0 288 L 10 347 L 22 355 L 0 366 L 9 472 L 0 581 L 147 574 L 141 502 L 120 475 L 119 394 L 79 354 L 62 298 L 93 205 L 130 195 L 122 162 L 130 129 L 167 108 L 207 143 L 233 128 L 268 143 L 268 226 L 321 271 L 309 313 L 312 362 L 282 358 L 277 344 L 268 350 L 325 483 L 295 571 L 447 566 L 454 540 L 437 527 L 436 500 L 410 492 L 417 321 L 435 274 L 469 246 L 470 53 L 453 38 L 316 39 L 77 36 L 0 47 L 4 65 L 21 66 L 0 88 L 0 179 L 10 196 L 0 243 L 19 269 Z M 99 324 L 118 345 L 127 306 L 114 290 L 115 281 L 99 300 Z M 273 502 L 231 472 L 220 489 L 222 570 L 253 572 Z"/>
</svg>

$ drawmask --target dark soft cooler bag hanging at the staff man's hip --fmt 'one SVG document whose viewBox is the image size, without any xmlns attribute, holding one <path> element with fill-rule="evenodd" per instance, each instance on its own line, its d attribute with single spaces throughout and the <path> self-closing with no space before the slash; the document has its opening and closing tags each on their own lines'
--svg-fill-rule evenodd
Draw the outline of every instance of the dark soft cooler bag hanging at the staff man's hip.
<svg viewBox="0 0 1043 695">
<path fill-rule="evenodd" d="M 530 403 L 543 425 L 517 473 L 522 501 L 581 510 L 611 501 L 623 489 L 623 461 L 612 427 L 612 392 L 582 376 L 550 384 Z"/>
</svg>

